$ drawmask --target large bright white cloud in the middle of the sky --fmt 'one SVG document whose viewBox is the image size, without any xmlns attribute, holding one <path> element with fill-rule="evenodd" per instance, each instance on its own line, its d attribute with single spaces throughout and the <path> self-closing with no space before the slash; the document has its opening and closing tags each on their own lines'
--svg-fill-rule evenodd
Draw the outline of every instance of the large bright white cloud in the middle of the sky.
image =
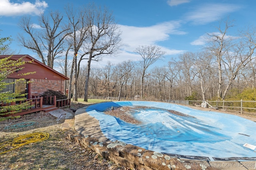
<svg viewBox="0 0 256 170">
<path fill-rule="evenodd" d="M 167 41 L 170 35 L 184 35 L 183 31 L 179 31 L 179 21 L 170 21 L 158 23 L 150 27 L 135 27 L 128 25 L 119 25 L 122 30 L 123 49 L 117 56 L 104 56 L 100 62 L 92 62 L 94 66 L 105 65 L 108 61 L 112 64 L 118 64 L 128 59 L 139 61 L 142 59 L 140 55 L 134 53 L 139 45 L 158 45 L 160 41 Z M 184 50 L 169 49 L 168 47 L 159 46 L 162 51 L 166 51 L 166 56 L 184 53 Z M 83 63 L 86 64 L 86 63 Z"/>
</svg>

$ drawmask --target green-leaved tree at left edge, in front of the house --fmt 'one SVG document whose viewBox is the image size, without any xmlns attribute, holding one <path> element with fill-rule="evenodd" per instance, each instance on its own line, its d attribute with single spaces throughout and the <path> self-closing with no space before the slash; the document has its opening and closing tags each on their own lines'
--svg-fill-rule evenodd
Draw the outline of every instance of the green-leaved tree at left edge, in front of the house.
<svg viewBox="0 0 256 170">
<path fill-rule="evenodd" d="M 0 51 L 4 50 L 7 45 L 4 45 L 6 41 L 9 41 L 10 37 L 0 38 Z M 26 94 L 17 94 L 11 91 L 4 92 L 3 90 L 9 84 L 14 84 L 15 82 L 22 81 L 24 79 L 17 79 L 15 82 L 7 83 L 4 81 L 9 75 L 14 73 L 17 70 L 22 70 L 22 67 L 27 62 L 23 60 L 23 57 L 20 59 L 12 60 L 12 56 L 0 59 L 0 115 L 9 115 L 7 118 L 10 118 L 12 114 L 20 112 L 22 109 L 30 108 L 31 105 L 29 102 L 24 102 L 19 105 L 8 105 L 12 102 L 22 101 L 26 98 Z M 19 75 L 28 75 L 34 72 L 27 72 Z"/>
</svg>

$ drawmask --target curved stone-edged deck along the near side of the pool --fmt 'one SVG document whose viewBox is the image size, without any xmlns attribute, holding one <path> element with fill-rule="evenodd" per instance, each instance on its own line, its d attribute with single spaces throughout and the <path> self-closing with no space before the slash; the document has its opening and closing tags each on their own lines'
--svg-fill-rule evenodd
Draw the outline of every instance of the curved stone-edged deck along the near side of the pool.
<svg viewBox="0 0 256 170">
<path fill-rule="evenodd" d="M 199 109 L 199 108 L 197 108 Z M 212 109 L 200 108 L 211 111 Z M 225 112 L 222 112 L 225 113 Z M 244 117 L 245 118 L 245 117 Z M 255 121 L 252 117 L 252 120 Z M 248 170 L 255 169 L 256 160 L 252 161 L 210 161 L 180 158 L 146 150 L 137 146 L 110 141 L 101 132 L 99 121 L 86 113 L 86 107 L 75 113 L 75 130 L 69 138 L 82 147 L 92 149 L 103 157 L 129 168 L 145 170 L 191 169 L 191 170 Z"/>
</svg>

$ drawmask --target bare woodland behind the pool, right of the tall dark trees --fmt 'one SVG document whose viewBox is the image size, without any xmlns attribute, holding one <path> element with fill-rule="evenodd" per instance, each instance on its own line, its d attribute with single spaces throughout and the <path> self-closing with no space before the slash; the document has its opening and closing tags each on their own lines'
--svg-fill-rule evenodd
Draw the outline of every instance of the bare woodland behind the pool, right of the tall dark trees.
<svg viewBox="0 0 256 170">
<path fill-rule="evenodd" d="M 180 54 L 163 61 L 167 63 L 163 66 L 148 69 L 154 61 L 163 59 L 164 52 L 152 50 L 155 46 L 141 46 L 135 50 L 141 61 L 92 68 L 89 95 L 118 100 L 135 95 L 147 100 L 224 100 L 234 90 L 239 94 L 244 88 L 255 88 L 255 29 L 231 37 L 227 33 L 232 26 L 227 21 L 223 25 L 223 29 L 218 27 L 218 32 L 208 34 L 202 51 Z M 156 51 L 160 51 L 159 57 L 150 58 Z M 82 77 L 79 81 L 84 82 Z"/>
</svg>

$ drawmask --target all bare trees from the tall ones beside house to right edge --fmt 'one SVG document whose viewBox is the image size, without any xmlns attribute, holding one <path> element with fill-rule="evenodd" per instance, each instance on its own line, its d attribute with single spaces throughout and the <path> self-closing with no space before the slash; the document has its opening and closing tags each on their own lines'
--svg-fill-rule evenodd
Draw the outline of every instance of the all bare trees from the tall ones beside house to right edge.
<svg viewBox="0 0 256 170">
<path fill-rule="evenodd" d="M 94 4 L 66 8 L 66 14 L 50 12 L 39 17 L 38 25 L 28 17 L 19 25 L 29 36 L 20 34 L 20 44 L 36 52 L 42 62 L 53 67 L 56 59 L 63 73 L 70 77 L 68 97 L 88 95 L 134 97 L 149 100 L 224 100 L 230 89 L 242 91 L 255 87 L 256 29 L 229 35 L 233 27 L 221 22 L 207 34 L 204 49 L 186 52 L 166 61 L 165 51 L 156 45 L 141 45 L 134 53 L 140 61 L 124 61 L 103 68 L 91 68 L 92 61 L 116 55 L 122 45 L 121 30 L 107 9 Z M 163 66 L 152 65 L 159 59 Z M 82 61 L 87 60 L 87 65 Z M 55 62 L 54 62 L 55 61 Z M 60 62 L 61 61 L 61 62 Z"/>
</svg>

